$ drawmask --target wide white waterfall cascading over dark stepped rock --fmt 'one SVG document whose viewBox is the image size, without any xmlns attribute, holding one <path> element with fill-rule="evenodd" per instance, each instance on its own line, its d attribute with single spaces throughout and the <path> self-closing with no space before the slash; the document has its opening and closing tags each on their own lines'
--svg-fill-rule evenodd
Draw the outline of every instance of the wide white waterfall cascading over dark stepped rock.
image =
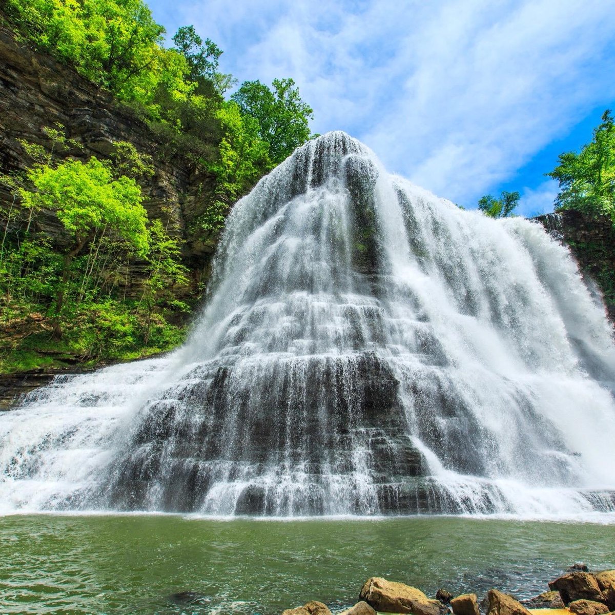
<svg viewBox="0 0 615 615">
<path fill-rule="evenodd" d="M 233 208 L 169 357 L 0 419 L 7 510 L 615 512 L 615 351 L 565 248 L 344 133 Z"/>
</svg>

